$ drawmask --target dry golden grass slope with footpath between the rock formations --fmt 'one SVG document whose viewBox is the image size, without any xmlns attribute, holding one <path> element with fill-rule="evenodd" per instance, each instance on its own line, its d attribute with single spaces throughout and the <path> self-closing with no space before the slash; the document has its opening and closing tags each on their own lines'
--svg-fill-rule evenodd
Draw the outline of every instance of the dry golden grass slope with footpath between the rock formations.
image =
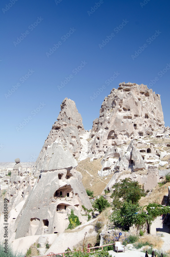
<svg viewBox="0 0 170 257">
<path fill-rule="evenodd" d="M 83 179 L 82 183 L 85 188 L 90 188 L 94 191 L 94 195 L 101 195 L 112 175 L 107 177 L 99 177 L 98 170 L 101 170 L 101 159 L 90 161 L 90 158 L 82 160 L 78 163 L 77 170 L 81 172 Z M 91 175 L 91 176 L 90 176 Z"/>
</svg>

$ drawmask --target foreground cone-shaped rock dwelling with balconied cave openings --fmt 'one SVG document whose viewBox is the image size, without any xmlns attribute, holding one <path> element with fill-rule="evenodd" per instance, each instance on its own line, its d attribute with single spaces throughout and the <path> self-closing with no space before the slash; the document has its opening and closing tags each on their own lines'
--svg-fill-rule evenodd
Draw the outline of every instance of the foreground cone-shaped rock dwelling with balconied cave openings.
<svg viewBox="0 0 170 257">
<path fill-rule="evenodd" d="M 55 140 L 48 146 L 41 176 L 25 201 L 15 227 L 16 237 L 63 232 L 68 227 L 71 209 L 84 223 L 87 216 L 82 205 L 90 209 L 91 203 L 84 189 L 82 175 L 76 171 L 77 161 L 62 143 Z M 85 218 L 84 218 L 85 217 Z"/>
</svg>

